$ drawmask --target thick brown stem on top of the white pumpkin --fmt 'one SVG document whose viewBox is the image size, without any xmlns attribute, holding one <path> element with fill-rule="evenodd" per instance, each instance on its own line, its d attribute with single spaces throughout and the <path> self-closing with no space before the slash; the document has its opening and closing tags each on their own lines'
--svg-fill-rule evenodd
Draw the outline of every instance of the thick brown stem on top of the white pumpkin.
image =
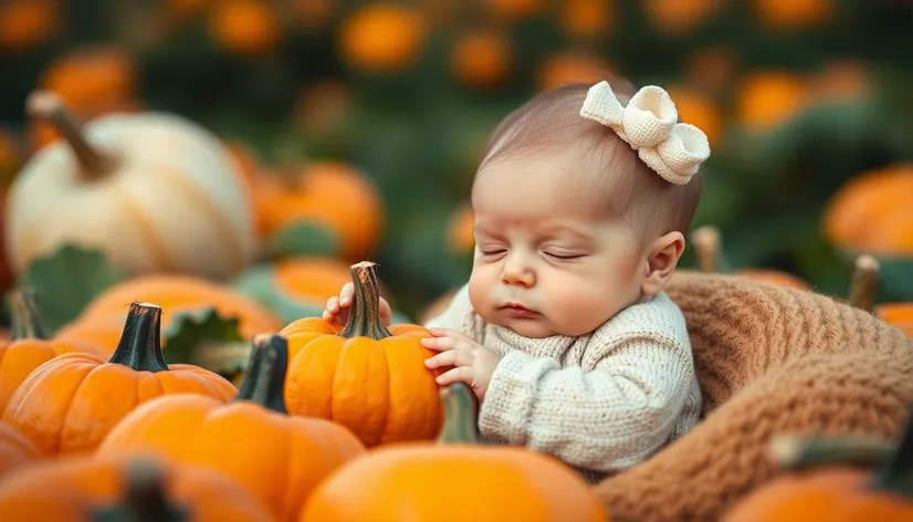
<svg viewBox="0 0 913 522">
<path fill-rule="evenodd" d="M 51 91 L 38 91 L 25 101 L 29 116 L 53 125 L 76 155 L 86 180 L 98 179 L 114 168 L 114 158 L 85 139 L 82 123 L 66 108 L 63 100 Z"/>
</svg>

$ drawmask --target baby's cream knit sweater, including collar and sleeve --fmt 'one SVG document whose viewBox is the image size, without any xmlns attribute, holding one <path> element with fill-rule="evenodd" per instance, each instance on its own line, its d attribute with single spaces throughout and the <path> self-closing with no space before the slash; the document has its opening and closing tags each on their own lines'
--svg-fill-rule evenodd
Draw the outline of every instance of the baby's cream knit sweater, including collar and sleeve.
<svg viewBox="0 0 913 522">
<path fill-rule="evenodd" d="M 664 293 L 588 335 L 527 338 L 486 324 L 463 286 L 426 326 L 502 356 L 479 410 L 484 442 L 554 455 L 594 482 L 643 461 L 701 415 L 684 316 Z"/>
</svg>

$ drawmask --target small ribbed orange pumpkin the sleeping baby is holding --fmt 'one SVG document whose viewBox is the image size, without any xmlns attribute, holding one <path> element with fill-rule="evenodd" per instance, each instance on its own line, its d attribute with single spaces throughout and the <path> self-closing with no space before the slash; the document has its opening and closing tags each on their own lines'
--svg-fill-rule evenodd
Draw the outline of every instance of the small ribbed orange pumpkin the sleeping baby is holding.
<svg viewBox="0 0 913 522">
<path fill-rule="evenodd" d="M 348 324 L 305 317 L 280 332 L 288 340 L 285 406 L 293 415 L 335 420 L 366 447 L 433 438 L 441 428 L 433 353 L 414 324 L 385 326 L 378 319 L 377 265 L 351 267 L 355 297 Z"/>
</svg>

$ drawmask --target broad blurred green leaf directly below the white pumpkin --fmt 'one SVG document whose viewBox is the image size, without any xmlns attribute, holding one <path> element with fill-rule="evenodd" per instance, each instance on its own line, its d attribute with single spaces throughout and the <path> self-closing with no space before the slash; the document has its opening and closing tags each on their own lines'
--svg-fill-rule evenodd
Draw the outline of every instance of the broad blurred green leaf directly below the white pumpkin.
<svg viewBox="0 0 913 522">
<path fill-rule="evenodd" d="M 96 295 L 126 279 L 103 251 L 64 244 L 25 267 L 19 284 L 33 289 L 44 325 L 53 334 Z"/>
</svg>

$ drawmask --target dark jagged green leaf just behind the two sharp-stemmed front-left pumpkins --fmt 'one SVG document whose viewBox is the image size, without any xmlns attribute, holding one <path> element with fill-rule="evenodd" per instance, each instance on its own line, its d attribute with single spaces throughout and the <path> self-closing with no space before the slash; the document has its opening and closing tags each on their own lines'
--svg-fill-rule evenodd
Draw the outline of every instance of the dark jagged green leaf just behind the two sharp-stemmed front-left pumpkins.
<svg viewBox="0 0 913 522">
<path fill-rule="evenodd" d="M 200 364 L 200 348 L 203 346 L 218 348 L 244 343 L 239 319 L 223 317 L 212 306 L 175 315 L 162 336 L 167 348 L 165 359 L 169 364 Z M 221 374 L 230 373 L 231 368 L 207 369 Z"/>
</svg>

